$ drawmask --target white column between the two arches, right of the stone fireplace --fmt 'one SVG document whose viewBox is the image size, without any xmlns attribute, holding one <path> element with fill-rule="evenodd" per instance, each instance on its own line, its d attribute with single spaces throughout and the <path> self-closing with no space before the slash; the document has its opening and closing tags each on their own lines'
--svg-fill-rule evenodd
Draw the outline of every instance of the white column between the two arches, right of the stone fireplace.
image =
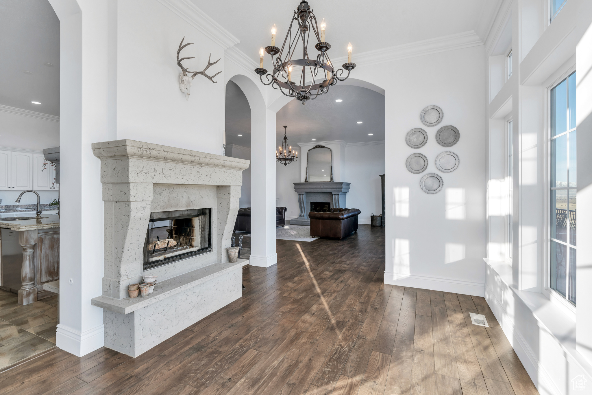
<svg viewBox="0 0 592 395">
<path fill-rule="evenodd" d="M 251 136 L 249 264 L 266 268 L 278 263 L 275 252 L 275 111 L 251 105 Z"/>
</svg>

